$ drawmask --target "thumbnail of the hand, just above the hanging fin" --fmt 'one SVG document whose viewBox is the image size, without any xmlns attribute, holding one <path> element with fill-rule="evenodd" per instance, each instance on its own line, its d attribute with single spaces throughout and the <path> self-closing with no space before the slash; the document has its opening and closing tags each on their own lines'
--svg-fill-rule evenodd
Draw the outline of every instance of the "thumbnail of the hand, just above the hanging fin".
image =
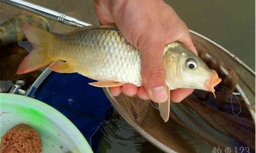
<svg viewBox="0 0 256 153">
<path fill-rule="evenodd" d="M 152 93 L 153 93 L 154 99 L 158 103 L 163 103 L 168 98 L 167 91 L 164 86 L 158 86 L 158 87 L 152 88 Z"/>
</svg>

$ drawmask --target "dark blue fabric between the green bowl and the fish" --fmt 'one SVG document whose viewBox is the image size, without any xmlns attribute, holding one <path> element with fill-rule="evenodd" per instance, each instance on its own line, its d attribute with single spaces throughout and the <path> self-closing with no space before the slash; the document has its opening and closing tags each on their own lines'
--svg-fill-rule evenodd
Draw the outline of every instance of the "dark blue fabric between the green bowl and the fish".
<svg viewBox="0 0 256 153">
<path fill-rule="evenodd" d="M 91 143 L 90 137 L 102 120 L 110 116 L 113 108 L 103 90 L 88 85 L 89 82 L 94 81 L 78 73 L 52 72 L 40 85 L 34 98 L 69 118 Z"/>
</svg>

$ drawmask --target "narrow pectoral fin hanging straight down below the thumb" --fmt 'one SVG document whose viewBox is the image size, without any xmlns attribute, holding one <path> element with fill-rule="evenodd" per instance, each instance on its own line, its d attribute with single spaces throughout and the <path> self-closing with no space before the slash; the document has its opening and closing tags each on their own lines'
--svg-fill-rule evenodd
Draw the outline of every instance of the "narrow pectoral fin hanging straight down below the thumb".
<svg viewBox="0 0 256 153">
<path fill-rule="evenodd" d="M 158 109 L 164 122 L 167 122 L 170 114 L 170 90 L 169 89 L 168 89 L 168 99 L 164 103 L 159 103 Z"/>
</svg>

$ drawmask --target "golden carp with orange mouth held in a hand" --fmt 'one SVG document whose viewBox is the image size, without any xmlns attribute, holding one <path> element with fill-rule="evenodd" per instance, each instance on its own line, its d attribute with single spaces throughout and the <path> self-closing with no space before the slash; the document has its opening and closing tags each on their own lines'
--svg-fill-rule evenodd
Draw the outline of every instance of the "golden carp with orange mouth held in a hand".
<svg viewBox="0 0 256 153">
<path fill-rule="evenodd" d="M 141 54 L 127 42 L 116 27 L 86 27 L 59 38 L 44 30 L 26 25 L 24 34 L 33 45 L 30 53 L 18 67 L 17 73 L 27 73 L 50 65 L 60 73 L 78 72 L 98 82 L 97 87 L 116 87 L 125 83 L 142 86 Z M 221 82 L 193 52 L 179 42 L 164 47 L 164 68 L 169 90 L 194 88 L 214 93 Z M 58 62 L 56 62 L 58 61 Z M 54 63 L 53 63 L 54 62 Z M 159 104 L 160 115 L 169 118 L 170 98 Z"/>
</svg>

